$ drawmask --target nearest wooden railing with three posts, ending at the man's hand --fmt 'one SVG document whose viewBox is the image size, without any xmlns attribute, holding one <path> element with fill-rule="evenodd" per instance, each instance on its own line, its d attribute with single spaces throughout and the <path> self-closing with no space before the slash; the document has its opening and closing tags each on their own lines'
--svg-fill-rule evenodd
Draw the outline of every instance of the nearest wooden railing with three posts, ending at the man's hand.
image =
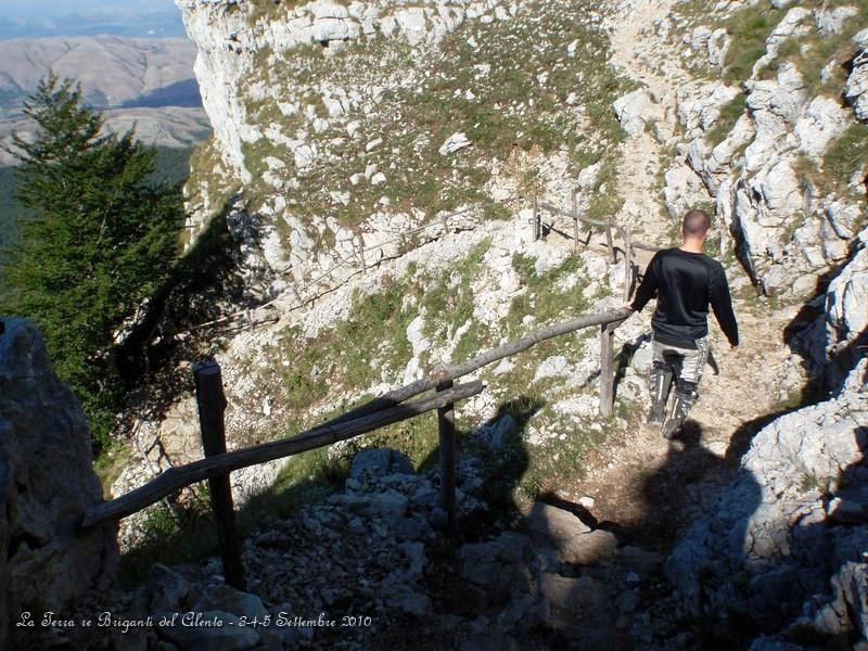
<svg viewBox="0 0 868 651">
<path fill-rule="evenodd" d="M 196 365 L 193 374 L 205 458 L 170 468 L 156 478 L 126 495 L 90 507 L 85 511 L 80 526 L 82 529 L 87 529 L 117 521 L 141 511 L 181 488 L 208 480 L 227 583 L 243 589 L 241 544 L 234 523 L 234 509 L 229 485 L 231 471 L 298 455 L 339 441 L 355 438 L 373 430 L 436 409 L 439 430 L 441 500 L 447 513 L 449 531 L 454 531 L 457 457 L 454 406 L 457 401 L 477 395 L 485 390 L 485 385 L 478 380 L 458 385 L 455 385 L 454 381 L 484 366 L 526 350 L 539 342 L 584 328 L 600 327 L 600 412 L 609 416 L 612 413 L 614 383 L 612 339 L 615 327 L 627 316 L 629 316 L 629 310 L 621 308 L 579 316 L 535 330 L 519 340 L 485 350 L 464 362 L 441 368 L 427 378 L 400 386 L 293 437 L 231 452 L 226 451 L 224 429 L 226 398 L 224 397 L 220 369 L 213 361 Z M 434 395 L 410 400 L 410 398 L 432 390 L 435 392 Z"/>
</svg>

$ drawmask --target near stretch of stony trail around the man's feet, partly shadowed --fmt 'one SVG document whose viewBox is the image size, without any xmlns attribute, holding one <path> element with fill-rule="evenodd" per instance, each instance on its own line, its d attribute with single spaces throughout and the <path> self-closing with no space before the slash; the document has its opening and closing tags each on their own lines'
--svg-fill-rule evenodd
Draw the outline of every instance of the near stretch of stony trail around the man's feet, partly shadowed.
<svg viewBox="0 0 868 651">
<path fill-rule="evenodd" d="M 681 435 L 669 443 L 659 427 L 631 423 L 593 450 L 576 481 L 559 490 L 564 500 L 591 497 L 596 520 L 660 551 L 714 501 L 757 424 L 777 411 L 776 379 L 792 363 L 780 335 L 784 321 L 773 321 L 743 301 L 736 301 L 735 309 L 741 345 L 731 349 L 719 332 L 713 334 L 717 371 L 706 366 Z"/>
</svg>

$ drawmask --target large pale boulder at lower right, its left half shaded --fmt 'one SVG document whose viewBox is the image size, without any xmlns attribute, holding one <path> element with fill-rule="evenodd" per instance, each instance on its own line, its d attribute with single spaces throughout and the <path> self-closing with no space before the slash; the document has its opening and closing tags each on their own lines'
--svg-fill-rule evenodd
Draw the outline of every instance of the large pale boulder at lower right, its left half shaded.
<svg viewBox="0 0 868 651">
<path fill-rule="evenodd" d="M 868 360 L 841 394 L 761 431 L 713 513 L 666 563 L 694 610 L 737 608 L 767 633 L 791 622 L 868 633 Z M 769 629 L 770 628 L 770 629 Z"/>
</svg>

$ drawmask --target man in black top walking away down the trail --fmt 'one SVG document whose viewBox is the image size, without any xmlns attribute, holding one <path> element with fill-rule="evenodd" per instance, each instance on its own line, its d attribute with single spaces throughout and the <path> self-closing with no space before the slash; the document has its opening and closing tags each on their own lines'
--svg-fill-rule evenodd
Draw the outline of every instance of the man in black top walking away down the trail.
<svg viewBox="0 0 868 651">
<path fill-rule="evenodd" d="M 684 243 L 678 248 L 659 251 L 651 258 L 628 306 L 640 311 L 656 293 L 658 306 L 651 318 L 654 357 L 648 422 L 663 424 L 664 438 L 672 438 L 680 429 L 699 397 L 697 388 L 709 357 L 710 305 L 729 344 L 733 348 L 739 345 L 724 267 L 702 253 L 710 230 L 705 210 L 688 212 L 681 222 Z M 675 399 L 664 422 L 673 374 Z"/>
</svg>

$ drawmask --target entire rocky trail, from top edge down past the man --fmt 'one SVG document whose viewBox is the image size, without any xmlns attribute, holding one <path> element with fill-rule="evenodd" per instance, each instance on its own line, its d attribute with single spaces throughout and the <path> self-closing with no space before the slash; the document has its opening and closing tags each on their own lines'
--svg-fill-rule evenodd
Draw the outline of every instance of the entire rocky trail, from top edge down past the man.
<svg viewBox="0 0 868 651">
<path fill-rule="evenodd" d="M 661 164 L 659 138 L 675 130 L 677 88 L 690 80 L 677 55 L 660 56 L 669 44 L 656 35 L 655 21 L 665 16 L 668 0 L 625 3 L 625 16 L 612 35 L 613 62 L 659 102 L 652 115 L 654 129 L 628 135 L 623 144 L 624 167 L 620 186 L 622 224 L 639 227 L 641 237 L 667 245 L 671 221 L 654 179 Z M 652 54 L 653 53 L 653 54 Z M 662 69 L 649 62 L 663 62 Z M 651 254 L 639 252 L 640 266 Z M 730 270 L 730 275 L 733 271 Z M 739 276 L 745 275 L 739 268 Z M 730 278 L 730 282 L 733 279 Z M 741 279 L 746 282 L 746 277 Z M 570 486 L 559 497 L 575 502 L 593 500 L 592 515 L 631 540 L 666 550 L 691 515 L 714 500 L 746 450 L 750 437 L 776 412 L 782 398 L 780 379 L 799 373 L 783 342 L 783 331 L 794 310 L 773 311 L 756 301 L 733 297 L 741 344 L 730 348 L 710 317 L 712 355 L 700 385 L 700 399 L 679 439 L 663 439 L 658 427 L 634 422 L 628 431 L 596 449 Z M 651 307 L 631 319 L 649 323 Z M 650 329 L 650 323 L 648 326 Z M 792 384 L 792 382 L 790 383 Z"/>
</svg>

